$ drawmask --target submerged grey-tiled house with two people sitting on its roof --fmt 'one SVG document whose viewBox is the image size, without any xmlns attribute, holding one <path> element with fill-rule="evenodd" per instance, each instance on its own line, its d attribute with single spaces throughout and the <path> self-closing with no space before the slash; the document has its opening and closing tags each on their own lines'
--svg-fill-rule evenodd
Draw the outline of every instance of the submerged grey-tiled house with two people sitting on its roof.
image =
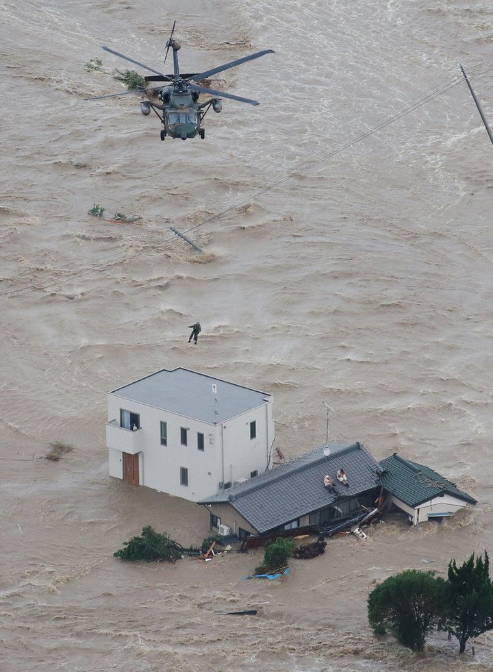
<svg viewBox="0 0 493 672">
<path fill-rule="evenodd" d="M 262 473 L 249 482 L 199 501 L 210 511 L 211 527 L 244 539 L 304 525 L 351 517 L 379 496 L 379 465 L 361 443 L 329 443 Z M 328 455 L 326 453 L 329 453 Z M 349 485 L 336 480 L 344 469 Z M 325 475 L 333 486 L 324 486 Z"/>
</svg>

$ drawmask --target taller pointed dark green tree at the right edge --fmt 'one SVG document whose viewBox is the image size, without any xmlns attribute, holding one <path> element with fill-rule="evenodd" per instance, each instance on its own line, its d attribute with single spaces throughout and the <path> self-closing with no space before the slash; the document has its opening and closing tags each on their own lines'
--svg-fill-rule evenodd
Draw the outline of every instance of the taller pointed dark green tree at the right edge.
<svg viewBox="0 0 493 672">
<path fill-rule="evenodd" d="M 484 560 L 472 553 L 460 567 L 455 560 L 448 563 L 447 597 L 445 629 L 457 637 L 463 654 L 470 637 L 493 629 L 493 584 L 486 551 Z"/>
</svg>

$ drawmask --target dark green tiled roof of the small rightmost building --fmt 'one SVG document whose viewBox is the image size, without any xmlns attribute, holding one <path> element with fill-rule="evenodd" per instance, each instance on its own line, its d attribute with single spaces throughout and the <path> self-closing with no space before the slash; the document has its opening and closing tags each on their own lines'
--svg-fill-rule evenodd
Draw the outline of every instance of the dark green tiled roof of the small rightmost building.
<svg viewBox="0 0 493 672">
<path fill-rule="evenodd" d="M 455 483 L 448 481 L 433 469 L 424 464 L 405 460 L 397 453 L 381 460 L 379 464 L 383 470 L 380 476 L 381 484 L 388 493 L 407 506 L 419 506 L 440 495 L 452 495 L 471 504 L 477 503 L 474 497 L 463 493 Z"/>
</svg>

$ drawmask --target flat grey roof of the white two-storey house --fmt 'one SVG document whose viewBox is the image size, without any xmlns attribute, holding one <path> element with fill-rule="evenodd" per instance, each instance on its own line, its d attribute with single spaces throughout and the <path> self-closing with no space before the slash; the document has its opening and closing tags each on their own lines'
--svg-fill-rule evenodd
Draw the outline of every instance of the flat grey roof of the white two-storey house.
<svg viewBox="0 0 493 672">
<path fill-rule="evenodd" d="M 214 384 L 217 395 L 212 392 Z M 156 371 L 112 390 L 111 394 L 212 425 L 262 406 L 271 396 L 260 390 L 181 368 Z"/>
</svg>

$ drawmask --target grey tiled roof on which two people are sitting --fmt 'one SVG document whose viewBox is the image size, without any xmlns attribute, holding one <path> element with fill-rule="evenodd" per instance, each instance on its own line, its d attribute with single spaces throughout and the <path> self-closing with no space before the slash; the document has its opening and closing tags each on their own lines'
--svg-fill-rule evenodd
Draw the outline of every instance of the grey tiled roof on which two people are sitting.
<svg viewBox="0 0 493 672">
<path fill-rule="evenodd" d="M 379 486 L 379 466 L 360 443 L 329 443 L 281 464 L 247 483 L 220 490 L 201 504 L 227 502 L 262 534 L 305 514 Z M 342 467 L 349 487 L 337 484 L 331 490 L 323 484 L 325 474 L 335 483 Z"/>
</svg>

